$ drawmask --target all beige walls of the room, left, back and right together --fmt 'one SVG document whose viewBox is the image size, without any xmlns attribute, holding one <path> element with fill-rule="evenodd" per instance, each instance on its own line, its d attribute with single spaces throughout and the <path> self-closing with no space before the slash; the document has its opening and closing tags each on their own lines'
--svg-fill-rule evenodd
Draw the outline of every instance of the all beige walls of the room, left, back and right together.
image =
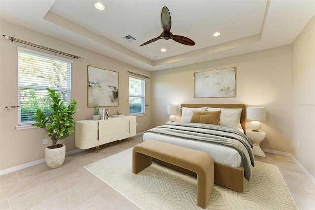
<svg viewBox="0 0 315 210">
<path fill-rule="evenodd" d="M 87 65 L 119 72 L 119 107 L 108 108 L 110 114 L 116 110 L 128 113 L 126 72 L 129 70 L 151 77 L 146 83 L 146 104 L 150 106 L 146 107 L 146 116 L 137 117 L 138 133 L 168 121 L 167 105 L 244 103 L 247 106 L 264 106 L 267 116 L 266 121 L 262 122 L 262 130 L 267 135 L 261 147 L 292 153 L 315 176 L 314 25 L 313 17 L 292 44 L 292 49 L 291 46 L 278 47 L 155 72 L 126 65 L 5 21 L 0 23 L 0 34 L 84 57 L 84 60 L 75 60 L 72 65 L 72 97 L 79 101 L 76 120 L 91 118 L 93 111 L 93 108 L 87 108 Z M 47 146 L 42 145 L 44 130 L 17 131 L 17 109 L 4 109 L 7 105 L 17 105 L 17 46 L 27 47 L 0 38 L 0 170 L 44 158 L 44 148 Z M 237 68 L 236 97 L 194 98 L 195 72 L 228 67 Z M 249 128 L 249 121 L 246 127 Z M 300 148 L 297 148 L 298 140 Z M 60 142 L 66 144 L 67 151 L 77 149 L 74 137 Z"/>
</svg>

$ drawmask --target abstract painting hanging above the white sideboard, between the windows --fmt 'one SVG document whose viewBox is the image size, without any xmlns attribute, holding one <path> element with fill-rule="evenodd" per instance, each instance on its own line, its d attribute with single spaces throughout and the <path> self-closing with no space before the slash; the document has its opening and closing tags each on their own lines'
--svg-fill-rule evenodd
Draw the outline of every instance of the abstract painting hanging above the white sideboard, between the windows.
<svg viewBox="0 0 315 210">
<path fill-rule="evenodd" d="M 88 66 L 88 107 L 118 106 L 118 72 Z"/>
</svg>

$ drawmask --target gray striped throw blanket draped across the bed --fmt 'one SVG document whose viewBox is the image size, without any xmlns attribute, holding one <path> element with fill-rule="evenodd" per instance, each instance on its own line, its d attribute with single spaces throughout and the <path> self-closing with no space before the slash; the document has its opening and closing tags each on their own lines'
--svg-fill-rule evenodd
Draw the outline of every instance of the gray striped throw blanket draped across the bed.
<svg viewBox="0 0 315 210">
<path fill-rule="evenodd" d="M 244 167 L 245 179 L 249 181 L 252 176 L 251 165 L 254 166 L 252 143 L 245 134 L 237 129 L 212 124 L 167 123 L 149 129 L 146 132 L 182 137 L 190 140 L 208 141 L 232 147 L 241 156 L 241 165 Z"/>
</svg>

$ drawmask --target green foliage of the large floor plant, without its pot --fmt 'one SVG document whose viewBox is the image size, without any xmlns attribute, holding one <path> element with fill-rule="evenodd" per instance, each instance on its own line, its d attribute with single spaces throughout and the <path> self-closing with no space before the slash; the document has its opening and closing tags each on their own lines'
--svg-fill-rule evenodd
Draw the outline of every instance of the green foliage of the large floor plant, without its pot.
<svg viewBox="0 0 315 210">
<path fill-rule="evenodd" d="M 45 114 L 38 108 L 37 114 L 33 117 L 36 123 L 32 125 L 47 131 L 46 136 L 53 142 L 49 148 L 58 148 L 59 146 L 56 146 L 57 141 L 71 136 L 71 132 L 74 132 L 73 115 L 77 112 L 77 100 L 72 99 L 68 105 L 64 105 L 63 100 L 59 98 L 59 93 L 49 88 L 46 89 L 52 102 L 49 113 Z"/>
</svg>

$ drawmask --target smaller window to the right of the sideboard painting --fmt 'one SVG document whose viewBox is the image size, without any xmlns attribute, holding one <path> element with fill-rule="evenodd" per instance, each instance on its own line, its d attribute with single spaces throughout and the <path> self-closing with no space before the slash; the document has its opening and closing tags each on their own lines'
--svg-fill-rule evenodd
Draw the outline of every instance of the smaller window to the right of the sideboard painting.
<svg viewBox="0 0 315 210">
<path fill-rule="evenodd" d="M 144 79 L 129 77 L 129 110 L 131 115 L 145 114 Z"/>
</svg>

